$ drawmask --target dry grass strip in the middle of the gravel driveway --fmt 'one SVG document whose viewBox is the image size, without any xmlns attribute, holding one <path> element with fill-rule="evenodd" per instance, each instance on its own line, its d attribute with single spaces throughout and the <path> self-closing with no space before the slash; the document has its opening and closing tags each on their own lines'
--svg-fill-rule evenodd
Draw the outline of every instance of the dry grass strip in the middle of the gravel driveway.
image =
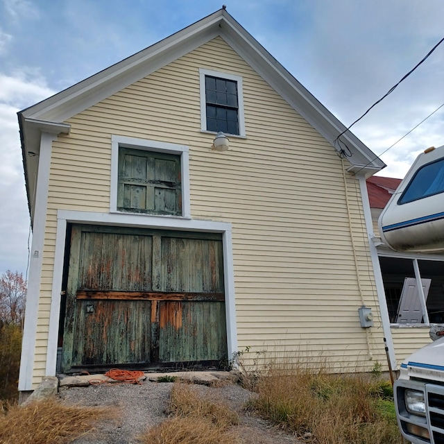
<svg viewBox="0 0 444 444">
<path fill-rule="evenodd" d="M 201 395 L 196 386 L 174 384 L 169 413 L 173 418 L 140 436 L 143 444 L 235 444 L 239 442 L 232 425 L 237 413 L 219 397 Z"/>
</svg>

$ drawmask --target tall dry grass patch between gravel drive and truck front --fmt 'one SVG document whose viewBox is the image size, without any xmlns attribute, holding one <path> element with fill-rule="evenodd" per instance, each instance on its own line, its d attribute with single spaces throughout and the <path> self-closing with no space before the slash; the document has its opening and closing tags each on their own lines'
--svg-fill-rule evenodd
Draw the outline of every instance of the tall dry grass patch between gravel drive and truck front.
<svg viewBox="0 0 444 444">
<path fill-rule="evenodd" d="M 372 377 L 271 368 L 257 382 L 250 408 L 298 436 L 311 434 L 318 444 L 400 444 L 385 387 Z"/>
</svg>

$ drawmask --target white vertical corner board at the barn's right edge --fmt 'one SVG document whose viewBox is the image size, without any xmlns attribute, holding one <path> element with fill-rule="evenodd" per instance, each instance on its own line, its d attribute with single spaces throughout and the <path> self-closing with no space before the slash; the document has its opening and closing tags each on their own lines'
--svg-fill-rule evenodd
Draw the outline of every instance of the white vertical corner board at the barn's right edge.
<svg viewBox="0 0 444 444">
<path fill-rule="evenodd" d="M 370 257 L 372 259 L 372 264 L 373 264 L 373 273 L 375 273 L 376 292 L 379 301 L 379 313 L 382 321 L 382 331 L 384 332 L 388 363 L 390 364 L 393 370 L 398 370 L 398 364 L 396 363 L 396 356 L 395 356 L 395 348 L 393 346 L 393 338 L 391 336 L 390 317 L 388 316 L 386 293 L 384 291 L 384 282 L 382 280 L 382 271 L 381 271 L 381 266 L 379 264 L 377 248 L 373 243 L 373 238 L 375 237 L 375 234 L 373 232 L 373 221 L 370 212 L 370 201 L 368 200 L 366 178 L 364 177 L 364 174 L 357 176 L 357 178 L 359 179 L 359 187 L 361 189 L 364 220 L 366 222 L 368 245 L 370 247 Z"/>
</svg>

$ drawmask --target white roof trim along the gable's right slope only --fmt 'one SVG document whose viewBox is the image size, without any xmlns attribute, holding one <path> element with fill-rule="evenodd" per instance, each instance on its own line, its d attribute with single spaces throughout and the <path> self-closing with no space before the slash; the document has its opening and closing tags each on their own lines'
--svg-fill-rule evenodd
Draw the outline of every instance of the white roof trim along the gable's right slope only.
<svg viewBox="0 0 444 444">
<path fill-rule="evenodd" d="M 318 130 L 330 144 L 345 130 L 345 126 L 334 115 L 322 105 L 278 60 L 273 58 L 248 32 L 232 20 L 221 24 L 221 37 L 232 49 L 239 53 L 248 64 L 262 76 L 264 80 L 287 101 L 308 123 Z M 384 162 L 379 159 L 370 149 L 363 144 L 350 131 L 345 133 L 343 139 L 355 148 L 357 159 L 347 160 L 354 164 L 369 164 L 377 171 L 385 167 Z"/>
</svg>

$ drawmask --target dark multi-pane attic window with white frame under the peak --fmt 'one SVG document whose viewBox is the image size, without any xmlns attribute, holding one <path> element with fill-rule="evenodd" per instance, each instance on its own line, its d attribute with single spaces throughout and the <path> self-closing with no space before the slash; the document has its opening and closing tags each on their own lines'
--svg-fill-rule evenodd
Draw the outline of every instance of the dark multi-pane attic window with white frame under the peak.
<svg viewBox="0 0 444 444">
<path fill-rule="evenodd" d="M 200 117 L 203 131 L 244 136 L 242 78 L 200 69 Z"/>
</svg>

